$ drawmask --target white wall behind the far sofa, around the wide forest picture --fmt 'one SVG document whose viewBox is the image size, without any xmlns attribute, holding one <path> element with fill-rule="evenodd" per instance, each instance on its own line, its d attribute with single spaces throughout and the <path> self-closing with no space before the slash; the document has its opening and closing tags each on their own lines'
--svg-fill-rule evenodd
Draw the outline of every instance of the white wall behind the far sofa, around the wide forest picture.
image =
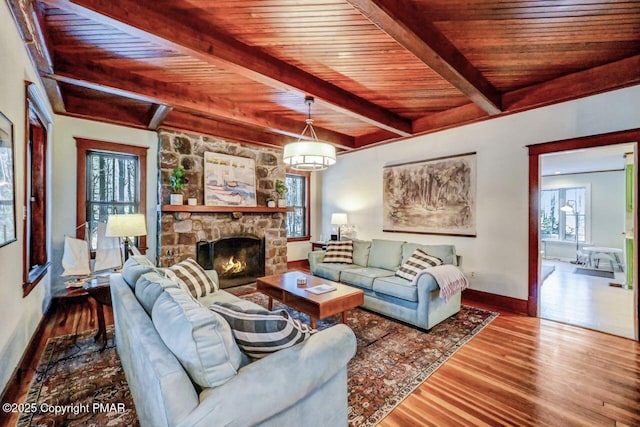
<svg viewBox="0 0 640 427">
<path fill-rule="evenodd" d="M 526 146 L 638 127 L 640 86 L 635 86 L 343 154 L 323 172 L 322 232 L 331 231 L 332 212 L 347 212 L 359 238 L 452 243 L 473 289 L 527 299 Z M 477 237 L 382 232 L 385 165 L 472 151 L 478 160 Z"/>
</svg>

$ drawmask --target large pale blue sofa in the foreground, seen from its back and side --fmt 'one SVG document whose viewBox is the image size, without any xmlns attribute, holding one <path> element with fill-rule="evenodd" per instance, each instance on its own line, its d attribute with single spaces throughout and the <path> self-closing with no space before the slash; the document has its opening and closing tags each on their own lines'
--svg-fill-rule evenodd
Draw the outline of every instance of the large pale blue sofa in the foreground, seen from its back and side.
<svg viewBox="0 0 640 427">
<path fill-rule="evenodd" d="M 347 424 L 347 362 L 356 350 L 355 336 L 347 326 L 325 329 L 254 362 L 232 348 L 233 339 L 227 340 L 226 352 L 238 355 L 237 372 L 232 370 L 220 385 L 201 387 L 183 367 L 184 360 L 181 363 L 163 341 L 169 333 L 180 347 L 192 345 L 197 325 L 185 323 L 184 318 L 174 320 L 178 303 L 190 304 L 188 310 L 199 310 L 201 317 L 211 311 L 203 311 L 200 304 L 255 305 L 223 290 L 196 301 L 136 257 L 125 263 L 121 274 L 111 275 L 111 293 L 116 345 L 142 426 Z M 214 350 L 216 357 L 224 353 L 220 346 Z M 226 373 L 229 366 L 224 366 Z"/>
</svg>

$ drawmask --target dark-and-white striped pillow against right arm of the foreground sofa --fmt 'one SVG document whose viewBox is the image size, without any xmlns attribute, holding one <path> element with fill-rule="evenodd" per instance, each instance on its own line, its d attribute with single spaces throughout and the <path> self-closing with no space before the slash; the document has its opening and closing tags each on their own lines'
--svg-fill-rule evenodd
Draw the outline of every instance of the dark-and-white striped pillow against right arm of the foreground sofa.
<svg viewBox="0 0 640 427">
<path fill-rule="evenodd" d="M 315 332 L 309 326 L 292 319 L 286 310 L 243 311 L 229 303 L 213 303 L 209 309 L 225 318 L 231 326 L 238 347 L 254 359 L 261 359 L 301 343 Z"/>
</svg>

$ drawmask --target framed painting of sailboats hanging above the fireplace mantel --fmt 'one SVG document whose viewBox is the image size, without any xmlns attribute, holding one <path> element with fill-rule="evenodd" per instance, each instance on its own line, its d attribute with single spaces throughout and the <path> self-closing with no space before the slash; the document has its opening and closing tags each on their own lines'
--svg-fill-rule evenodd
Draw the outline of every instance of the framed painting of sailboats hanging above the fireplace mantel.
<svg viewBox="0 0 640 427">
<path fill-rule="evenodd" d="M 256 165 L 253 159 L 204 153 L 206 206 L 257 206 Z"/>
</svg>

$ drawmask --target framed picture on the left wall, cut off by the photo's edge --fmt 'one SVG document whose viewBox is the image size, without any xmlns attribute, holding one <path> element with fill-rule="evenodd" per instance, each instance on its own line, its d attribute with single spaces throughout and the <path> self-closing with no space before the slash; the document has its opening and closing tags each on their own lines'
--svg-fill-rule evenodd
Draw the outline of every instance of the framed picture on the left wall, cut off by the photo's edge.
<svg viewBox="0 0 640 427">
<path fill-rule="evenodd" d="M 16 241 L 13 123 L 0 113 L 0 247 Z"/>
</svg>

